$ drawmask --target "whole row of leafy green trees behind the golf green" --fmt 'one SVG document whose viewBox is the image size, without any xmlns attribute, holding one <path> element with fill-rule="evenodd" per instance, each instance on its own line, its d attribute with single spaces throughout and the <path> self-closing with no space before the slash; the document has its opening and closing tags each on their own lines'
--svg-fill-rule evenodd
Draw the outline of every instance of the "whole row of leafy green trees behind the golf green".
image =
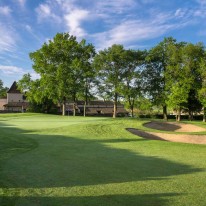
<svg viewBox="0 0 206 206">
<path fill-rule="evenodd" d="M 25 74 L 18 85 L 27 91 L 33 105 L 50 108 L 52 103 L 62 105 L 88 100 L 98 96 L 114 102 L 124 101 L 132 116 L 140 98 L 161 106 L 167 120 L 167 108 L 194 112 L 206 108 L 206 50 L 202 43 L 177 42 L 165 38 L 149 50 L 125 49 L 114 44 L 95 51 L 85 40 L 77 41 L 68 33 L 58 33 L 52 40 L 30 53 L 33 69 L 40 78 Z"/>
</svg>

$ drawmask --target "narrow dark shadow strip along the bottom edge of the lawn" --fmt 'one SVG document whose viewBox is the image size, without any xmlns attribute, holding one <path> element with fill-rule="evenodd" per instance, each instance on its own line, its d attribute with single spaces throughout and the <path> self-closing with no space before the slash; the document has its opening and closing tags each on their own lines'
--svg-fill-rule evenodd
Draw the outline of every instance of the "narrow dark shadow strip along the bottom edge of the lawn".
<svg viewBox="0 0 206 206">
<path fill-rule="evenodd" d="M 73 197 L 4 197 L 1 206 L 15 206 L 16 201 L 22 205 L 38 206 L 164 206 L 168 198 L 179 194 L 145 194 L 145 195 L 102 195 L 102 196 L 73 196 Z M 0 197 L 1 198 L 1 197 Z"/>
</svg>

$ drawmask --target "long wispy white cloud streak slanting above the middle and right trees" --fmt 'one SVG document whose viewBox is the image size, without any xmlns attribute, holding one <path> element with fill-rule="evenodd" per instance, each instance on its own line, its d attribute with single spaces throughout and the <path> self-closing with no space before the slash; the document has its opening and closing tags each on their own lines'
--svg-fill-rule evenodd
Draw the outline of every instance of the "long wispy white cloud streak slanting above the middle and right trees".
<svg viewBox="0 0 206 206">
<path fill-rule="evenodd" d="M 99 49 L 112 44 L 130 45 L 141 40 L 154 39 L 165 35 L 167 32 L 185 26 L 188 21 L 172 21 L 171 14 L 159 13 L 147 20 L 125 20 L 114 28 L 92 35 Z"/>
</svg>

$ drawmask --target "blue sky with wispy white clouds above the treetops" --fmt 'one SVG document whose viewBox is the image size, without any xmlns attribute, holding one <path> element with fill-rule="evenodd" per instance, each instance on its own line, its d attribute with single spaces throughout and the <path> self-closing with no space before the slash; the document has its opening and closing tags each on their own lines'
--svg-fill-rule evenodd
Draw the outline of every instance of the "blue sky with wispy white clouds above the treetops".
<svg viewBox="0 0 206 206">
<path fill-rule="evenodd" d="M 0 79 L 10 87 L 32 70 L 29 53 L 57 32 L 86 39 L 97 50 L 112 44 L 149 49 L 173 36 L 206 41 L 206 0 L 0 0 Z"/>
</svg>

